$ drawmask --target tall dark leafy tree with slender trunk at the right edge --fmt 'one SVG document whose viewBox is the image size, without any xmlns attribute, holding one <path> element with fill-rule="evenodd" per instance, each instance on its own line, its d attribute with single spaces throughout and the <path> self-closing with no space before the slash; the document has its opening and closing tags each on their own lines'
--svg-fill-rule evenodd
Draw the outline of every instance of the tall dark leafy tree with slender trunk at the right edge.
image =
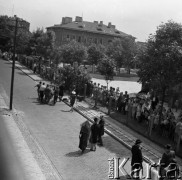
<svg viewBox="0 0 182 180">
<path fill-rule="evenodd" d="M 160 92 L 163 108 L 166 91 L 182 82 L 182 25 L 173 21 L 161 24 L 138 56 L 139 81 Z"/>
</svg>

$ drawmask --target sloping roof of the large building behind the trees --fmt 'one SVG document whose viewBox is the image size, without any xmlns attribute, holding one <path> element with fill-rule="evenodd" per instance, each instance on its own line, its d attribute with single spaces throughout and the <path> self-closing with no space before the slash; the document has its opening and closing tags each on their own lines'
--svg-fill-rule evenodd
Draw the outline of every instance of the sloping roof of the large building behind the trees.
<svg viewBox="0 0 182 180">
<path fill-rule="evenodd" d="M 93 33 L 99 33 L 99 34 L 107 34 L 112 36 L 131 36 L 128 35 L 122 31 L 119 31 L 115 29 L 114 27 L 108 27 L 107 25 L 99 25 L 99 23 L 96 22 L 88 22 L 88 21 L 82 21 L 82 22 L 70 22 L 67 24 L 58 24 L 51 27 L 47 27 L 48 29 L 52 28 L 66 28 L 66 29 L 74 29 L 78 31 L 87 31 L 87 32 L 93 32 Z M 132 37 L 132 36 L 131 36 Z"/>
</svg>

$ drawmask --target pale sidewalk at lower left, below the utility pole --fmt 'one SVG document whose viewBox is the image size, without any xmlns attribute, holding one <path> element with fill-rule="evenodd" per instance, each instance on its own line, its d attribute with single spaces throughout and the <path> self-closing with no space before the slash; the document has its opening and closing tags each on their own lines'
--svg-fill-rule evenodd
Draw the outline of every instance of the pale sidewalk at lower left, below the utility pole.
<svg viewBox="0 0 182 180">
<path fill-rule="evenodd" d="M 4 122 L 4 125 L 5 125 L 5 127 L 1 127 L 1 128 L 7 129 L 9 136 L 12 138 L 11 143 L 13 143 L 13 145 L 12 145 L 10 142 L 7 142 L 7 143 L 10 143 L 10 145 L 12 147 L 11 147 L 11 149 L 6 149 L 6 151 L 8 151 L 8 152 L 5 151 L 5 153 L 10 153 L 10 154 L 7 154 L 7 156 L 8 156 L 15 152 L 15 154 L 13 156 L 14 157 L 17 156 L 17 158 L 19 160 L 19 161 L 18 160 L 16 161 L 16 167 L 14 167 L 14 168 L 11 167 L 11 170 L 5 169 L 6 173 L 9 173 L 10 171 L 15 171 L 15 174 L 18 177 L 20 177 L 20 173 L 24 174 L 25 177 L 23 179 L 26 179 L 26 180 L 45 180 L 46 178 L 45 178 L 44 174 L 42 173 L 39 165 L 37 164 L 36 160 L 33 157 L 33 154 L 31 153 L 26 141 L 24 140 L 19 128 L 17 127 L 12 113 L 10 111 L 8 111 L 8 107 L 4 101 L 4 98 L 1 96 L 1 94 L 0 94 L 0 119 L 2 122 Z M 5 134 L 1 133 L 1 135 L 2 135 L 1 139 L 5 139 L 5 137 L 7 138 L 7 134 L 5 136 Z M 2 151 L 2 148 L 5 148 L 5 147 L 2 145 L 1 151 Z M 3 154 L 1 154 L 1 155 L 3 155 Z M 8 161 L 8 163 L 10 163 L 8 159 L 5 159 L 4 161 Z M 12 161 L 13 160 L 11 159 L 11 162 Z M 19 172 L 16 172 L 18 166 L 19 166 Z M 9 178 L 8 174 L 6 174 L 6 176 L 8 176 L 8 178 Z M 3 178 L 3 177 L 1 177 L 1 178 Z M 14 179 L 16 179 L 16 178 L 14 177 Z"/>
</svg>

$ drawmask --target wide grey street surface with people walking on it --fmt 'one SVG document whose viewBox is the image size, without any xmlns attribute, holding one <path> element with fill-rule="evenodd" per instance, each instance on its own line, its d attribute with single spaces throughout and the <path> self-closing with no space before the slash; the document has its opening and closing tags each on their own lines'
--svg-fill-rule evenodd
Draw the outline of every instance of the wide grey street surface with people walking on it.
<svg viewBox="0 0 182 180">
<path fill-rule="evenodd" d="M 9 97 L 10 78 L 11 64 L 0 60 L 0 93 L 6 97 Z M 105 134 L 104 147 L 97 146 L 96 152 L 86 150 L 81 155 L 78 149 L 79 130 L 86 119 L 76 112 L 68 112 L 70 107 L 63 102 L 55 106 L 39 104 L 35 84 L 22 71 L 15 70 L 13 105 L 22 117 L 19 127 L 21 123 L 27 127 L 63 179 L 108 179 L 108 159 L 129 157 L 130 151 Z M 22 134 L 26 135 L 26 132 Z M 31 150 L 34 149 L 34 145 L 27 144 Z M 42 159 L 34 151 L 32 153 L 46 175 L 48 172 Z"/>
</svg>

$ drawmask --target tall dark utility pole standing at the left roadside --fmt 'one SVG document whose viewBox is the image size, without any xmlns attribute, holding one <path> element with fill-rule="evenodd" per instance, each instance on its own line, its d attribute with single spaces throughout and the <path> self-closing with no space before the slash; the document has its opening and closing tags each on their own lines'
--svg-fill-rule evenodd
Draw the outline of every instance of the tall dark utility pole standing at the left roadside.
<svg viewBox="0 0 182 180">
<path fill-rule="evenodd" d="M 14 86 L 14 73 L 15 73 L 15 53 L 16 53 L 16 35 L 18 29 L 18 18 L 16 15 L 14 16 L 16 23 L 15 23 L 15 34 L 14 34 L 14 42 L 13 42 L 13 63 L 12 63 L 12 73 L 11 73 L 11 91 L 10 91 L 10 105 L 9 109 L 12 110 L 13 105 L 13 86 Z"/>
</svg>

